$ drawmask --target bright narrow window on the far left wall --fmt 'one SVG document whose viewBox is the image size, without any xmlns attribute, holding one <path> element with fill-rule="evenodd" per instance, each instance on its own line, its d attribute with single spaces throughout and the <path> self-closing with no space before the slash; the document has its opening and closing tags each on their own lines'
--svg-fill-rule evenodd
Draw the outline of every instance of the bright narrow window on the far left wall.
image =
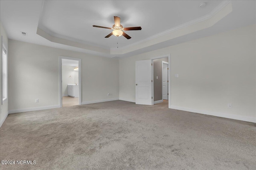
<svg viewBox="0 0 256 170">
<path fill-rule="evenodd" d="M 7 51 L 3 46 L 2 51 L 2 58 L 3 58 L 3 75 L 2 75 L 2 88 L 3 88 L 3 101 L 7 99 Z"/>
</svg>

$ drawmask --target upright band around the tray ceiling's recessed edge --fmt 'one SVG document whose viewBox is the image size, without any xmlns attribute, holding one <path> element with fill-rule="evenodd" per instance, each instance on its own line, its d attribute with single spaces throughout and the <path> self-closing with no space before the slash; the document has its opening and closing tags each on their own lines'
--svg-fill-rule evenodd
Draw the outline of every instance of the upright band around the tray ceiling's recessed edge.
<svg viewBox="0 0 256 170">
<path fill-rule="evenodd" d="M 86 49 L 89 51 L 95 51 L 95 52 L 104 53 L 108 55 L 123 55 L 126 53 L 130 53 L 132 51 L 136 51 L 138 49 L 143 49 L 145 47 L 149 47 L 157 43 L 162 43 L 164 41 L 168 41 L 170 39 L 174 39 L 182 35 L 186 35 L 189 33 L 193 33 L 195 31 L 199 31 L 199 30 L 211 27 L 212 25 L 220 21 L 222 18 L 224 18 L 226 15 L 228 15 L 230 12 L 232 12 L 231 0 L 225 0 L 221 2 L 216 8 L 214 8 L 212 12 L 210 12 L 205 16 L 197 18 L 196 20 L 189 21 L 177 27 L 173 27 L 172 29 L 168 29 L 166 31 L 163 31 L 161 33 L 148 37 L 147 39 L 138 41 L 136 43 L 127 45 L 119 49 L 116 49 L 116 48 L 104 49 L 101 47 L 87 45 L 77 41 L 55 37 L 53 35 L 50 35 L 46 31 L 44 31 L 43 29 L 40 29 L 39 27 L 37 28 L 36 33 L 41 37 L 44 37 L 45 39 L 48 39 L 49 41 L 54 43 L 59 43 L 59 44 L 68 45 L 72 47 L 78 47 L 81 49 Z"/>
</svg>

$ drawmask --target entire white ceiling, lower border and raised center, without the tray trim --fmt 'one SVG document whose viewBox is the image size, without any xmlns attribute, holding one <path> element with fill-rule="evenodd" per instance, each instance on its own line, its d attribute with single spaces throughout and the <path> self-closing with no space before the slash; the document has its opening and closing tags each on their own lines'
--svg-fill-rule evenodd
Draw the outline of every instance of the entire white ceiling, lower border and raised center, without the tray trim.
<svg viewBox="0 0 256 170">
<path fill-rule="evenodd" d="M 202 2 L 206 2 L 206 7 L 199 7 L 199 4 Z M 112 35 L 110 38 L 104 38 L 111 30 L 92 27 L 92 25 L 112 27 L 114 24 L 113 16 L 119 16 L 124 27 L 141 26 L 141 31 L 126 31 L 132 39 L 118 38 L 119 49 L 126 49 L 131 45 L 145 42 L 150 37 L 161 34 L 163 31 L 198 20 L 198 18 L 202 18 L 220 8 L 220 5 L 224 2 L 207 0 L 1 0 L 0 20 L 10 39 L 106 57 L 122 57 L 255 24 L 255 1 L 232 1 L 232 12 L 211 27 L 174 39 L 168 39 L 154 45 L 148 45 L 147 47 L 130 50 L 124 55 L 111 55 L 110 51 L 116 50 L 117 37 Z M 38 28 L 54 37 L 71 40 L 81 45 L 90 45 L 102 50 L 51 42 L 36 34 Z M 28 36 L 22 35 L 21 31 L 28 33 Z"/>
</svg>

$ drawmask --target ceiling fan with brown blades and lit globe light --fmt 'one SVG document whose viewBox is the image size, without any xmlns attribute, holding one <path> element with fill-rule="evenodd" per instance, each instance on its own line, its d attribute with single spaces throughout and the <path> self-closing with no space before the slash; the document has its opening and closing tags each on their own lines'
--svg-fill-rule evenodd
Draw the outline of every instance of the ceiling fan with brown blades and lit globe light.
<svg viewBox="0 0 256 170">
<path fill-rule="evenodd" d="M 129 35 L 127 35 L 124 31 L 141 30 L 141 27 L 126 27 L 126 28 L 124 28 L 123 25 L 120 24 L 120 18 L 117 16 L 114 16 L 114 21 L 115 21 L 115 24 L 112 26 L 112 28 L 102 27 L 102 26 L 98 26 L 98 25 L 92 25 L 92 26 L 98 27 L 98 28 L 113 29 L 112 33 L 108 34 L 105 38 L 108 38 L 111 35 L 115 35 L 116 37 L 123 35 L 127 39 L 130 39 L 131 37 Z"/>
</svg>

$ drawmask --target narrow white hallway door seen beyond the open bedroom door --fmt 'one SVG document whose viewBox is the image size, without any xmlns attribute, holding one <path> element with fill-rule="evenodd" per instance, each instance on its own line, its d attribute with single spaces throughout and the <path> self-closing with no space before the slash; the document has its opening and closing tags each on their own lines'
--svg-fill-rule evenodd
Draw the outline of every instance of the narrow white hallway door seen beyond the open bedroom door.
<svg viewBox="0 0 256 170">
<path fill-rule="evenodd" d="M 162 61 L 162 99 L 168 100 L 168 63 Z"/>
</svg>

